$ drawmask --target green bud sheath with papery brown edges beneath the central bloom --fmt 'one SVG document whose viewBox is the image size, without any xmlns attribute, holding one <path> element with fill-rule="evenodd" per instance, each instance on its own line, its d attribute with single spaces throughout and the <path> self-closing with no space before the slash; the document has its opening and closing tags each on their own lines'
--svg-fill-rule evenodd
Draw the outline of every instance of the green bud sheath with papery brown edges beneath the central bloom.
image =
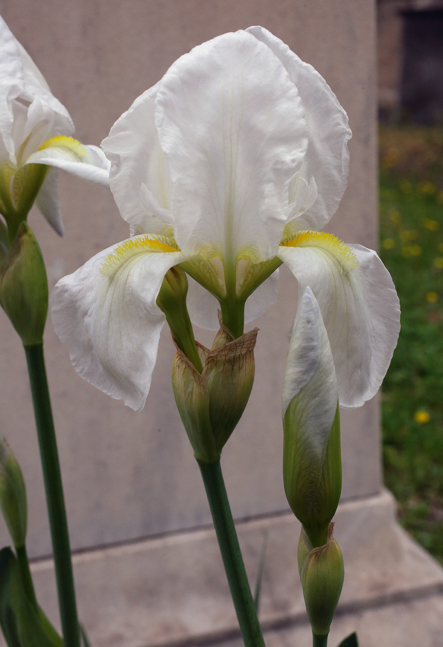
<svg viewBox="0 0 443 647">
<path fill-rule="evenodd" d="M 233 339 L 221 326 L 211 350 L 198 344 L 202 373 L 177 348 L 173 389 L 180 417 L 199 461 L 213 463 L 248 402 L 254 384 L 257 329 Z"/>
</svg>

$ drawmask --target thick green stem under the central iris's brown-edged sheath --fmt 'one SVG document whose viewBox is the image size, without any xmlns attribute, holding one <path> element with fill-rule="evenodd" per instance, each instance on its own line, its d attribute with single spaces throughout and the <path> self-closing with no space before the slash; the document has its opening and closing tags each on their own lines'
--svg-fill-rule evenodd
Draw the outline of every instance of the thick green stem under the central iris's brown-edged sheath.
<svg viewBox="0 0 443 647">
<path fill-rule="evenodd" d="M 265 647 L 224 487 L 220 461 L 199 463 L 245 647 Z"/>
</svg>

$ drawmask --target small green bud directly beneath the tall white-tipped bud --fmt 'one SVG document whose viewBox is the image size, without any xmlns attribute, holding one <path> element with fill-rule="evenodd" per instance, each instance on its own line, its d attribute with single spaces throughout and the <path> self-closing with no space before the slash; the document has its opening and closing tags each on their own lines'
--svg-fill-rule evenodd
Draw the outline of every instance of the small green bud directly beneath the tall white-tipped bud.
<svg viewBox="0 0 443 647">
<path fill-rule="evenodd" d="M 308 553 L 301 569 L 301 586 L 314 635 L 329 633 L 343 587 L 345 567 L 336 540 L 332 538 L 334 524 L 330 523 L 327 542 Z"/>
</svg>

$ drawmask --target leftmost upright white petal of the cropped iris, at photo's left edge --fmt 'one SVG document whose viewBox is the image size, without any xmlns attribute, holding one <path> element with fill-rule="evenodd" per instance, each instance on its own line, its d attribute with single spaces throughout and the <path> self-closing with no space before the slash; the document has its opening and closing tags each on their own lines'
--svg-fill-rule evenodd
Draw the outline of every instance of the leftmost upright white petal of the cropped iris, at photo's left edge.
<svg viewBox="0 0 443 647">
<path fill-rule="evenodd" d="M 11 102 L 25 85 L 18 43 L 0 16 L 0 157 L 16 162 Z"/>
</svg>

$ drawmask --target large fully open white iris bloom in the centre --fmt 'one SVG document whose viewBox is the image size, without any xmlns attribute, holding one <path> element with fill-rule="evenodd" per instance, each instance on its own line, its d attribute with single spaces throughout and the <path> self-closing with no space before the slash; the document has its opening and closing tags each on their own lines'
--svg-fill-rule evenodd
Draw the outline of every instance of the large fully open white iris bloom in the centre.
<svg viewBox="0 0 443 647">
<path fill-rule="evenodd" d="M 309 285 L 319 303 L 340 404 L 373 397 L 399 331 L 393 282 L 375 252 L 321 232 L 345 191 L 350 137 L 325 80 L 261 27 L 179 58 L 102 142 L 131 238 L 52 295 L 54 327 L 81 377 L 139 410 L 167 270 L 181 263 L 195 280 L 194 323 L 218 327 L 216 298 L 239 336 L 243 309 L 248 322 L 275 300 L 284 262 L 300 298 Z"/>
</svg>

